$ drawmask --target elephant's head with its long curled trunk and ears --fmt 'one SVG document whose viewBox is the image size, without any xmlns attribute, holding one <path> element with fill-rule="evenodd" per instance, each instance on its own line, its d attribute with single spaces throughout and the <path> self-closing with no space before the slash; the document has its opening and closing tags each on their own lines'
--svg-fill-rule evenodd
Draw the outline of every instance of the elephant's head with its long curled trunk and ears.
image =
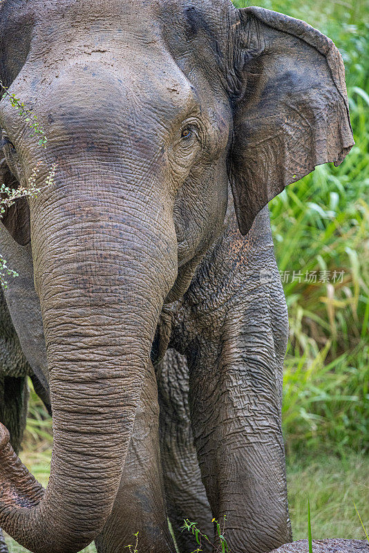
<svg viewBox="0 0 369 553">
<path fill-rule="evenodd" d="M 0 77 L 48 135 L 42 150 L 3 97 L 3 180 L 44 162 L 3 224 L 32 243 L 54 431 L 44 491 L 3 429 L 0 526 L 71 553 L 111 512 L 160 311 L 220 236 L 229 182 L 247 234 L 287 184 L 339 164 L 344 70 L 320 32 L 230 0 L 3 0 Z"/>
</svg>

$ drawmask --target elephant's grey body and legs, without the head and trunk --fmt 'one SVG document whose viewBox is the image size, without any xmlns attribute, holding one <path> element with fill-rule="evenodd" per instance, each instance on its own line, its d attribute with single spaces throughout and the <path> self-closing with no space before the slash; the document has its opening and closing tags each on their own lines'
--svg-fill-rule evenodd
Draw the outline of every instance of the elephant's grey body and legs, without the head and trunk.
<svg viewBox="0 0 369 553">
<path fill-rule="evenodd" d="M 12 344 L 7 356 L 12 363 L 6 373 L 3 361 L 2 373 L 19 381 L 19 391 L 23 391 L 21 377 L 32 376 L 49 406 L 46 348 L 30 247 L 17 245 L 3 229 L 0 248 L 8 265 L 17 267 L 20 274 L 3 291 L 1 328 L 3 343 L 8 348 Z M 96 540 L 99 552 L 121 551 L 131 543 L 133 531 L 139 532 L 142 550 L 171 551 L 167 514 L 181 551 L 193 545 L 192 536 L 180 532 L 184 518 L 197 521 L 211 535 L 211 518 L 221 520 L 227 515 L 231 524 L 242 527 L 240 536 L 234 532 L 231 539 L 236 538 L 237 547 L 252 543 L 247 550 L 267 551 L 289 541 L 281 433 L 287 335 L 287 308 L 267 209 L 242 237 L 231 203 L 223 234 L 198 266 L 189 290 L 162 309 L 120 490 Z M 224 399 L 225 393 L 229 400 Z M 1 413 L 1 422 L 11 436 L 15 433 L 12 443 L 18 451 L 26 402 L 19 404 L 14 392 L 8 402 L 21 405 L 12 423 Z M 215 420 L 205 421 L 209 415 Z M 196 421 L 195 436 L 191 419 Z M 209 439 L 209 428 L 218 435 Z M 262 458 L 252 451 L 258 442 L 264 442 Z M 227 462 L 219 467 L 222 460 Z M 239 520 L 229 516 L 229 502 L 240 505 Z M 255 516 L 260 529 L 247 530 L 247 518 Z M 267 537 L 267 527 L 272 538 Z"/>
</svg>

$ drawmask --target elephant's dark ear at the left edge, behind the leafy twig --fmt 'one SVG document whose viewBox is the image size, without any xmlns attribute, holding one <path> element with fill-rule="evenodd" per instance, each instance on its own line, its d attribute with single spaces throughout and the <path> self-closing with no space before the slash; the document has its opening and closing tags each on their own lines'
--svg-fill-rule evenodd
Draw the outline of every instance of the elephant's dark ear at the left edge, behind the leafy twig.
<svg viewBox="0 0 369 553">
<path fill-rule="evenodd" d="M 5 158 L 2 157 L 0 158 L 0 184 L 3 183 L 11 189 L 17 189 L 19 186 Z M 0 221 L 17 243 L 23 246 L 30 242 L 30 208 L 26 198 L 18 198 L 15 203 L 6 207 L 5 212 L 0 216 Z"/>
</svg>

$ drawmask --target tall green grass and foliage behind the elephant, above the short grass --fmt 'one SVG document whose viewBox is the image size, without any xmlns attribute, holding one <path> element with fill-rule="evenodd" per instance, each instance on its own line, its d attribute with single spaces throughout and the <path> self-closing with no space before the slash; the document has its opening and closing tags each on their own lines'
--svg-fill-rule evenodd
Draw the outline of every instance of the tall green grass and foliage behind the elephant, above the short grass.
<svg viewBox="0 0 369 553">
<path fill-rule="evenodd" d="M 303 19 L 333 39 L 346 66 L 356 142 L 340 167 L 317 167 L 270 203 L 278 268 L 289 277 L 284 283 L 290 316 L 283 404 L 287 451 L 368 450 L 369 4 L 257 4 Z M 320 271 L 330 271 L 330 282 L 306 283 L 305 272 L 314 270 L 317 280 Z M 333 282 L 334 271 L 344 272 L 343 282 Z M 301 282 L 292 282 L 294 272 L 303 274 Z"/>
</svg>

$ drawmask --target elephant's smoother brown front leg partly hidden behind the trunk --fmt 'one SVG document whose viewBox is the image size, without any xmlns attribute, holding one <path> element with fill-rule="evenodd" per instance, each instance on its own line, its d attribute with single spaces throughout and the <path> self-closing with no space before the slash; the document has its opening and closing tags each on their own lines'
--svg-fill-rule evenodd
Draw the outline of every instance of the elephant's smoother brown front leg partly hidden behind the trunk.
<svg viewBox="0 0 369 553">
<path fill-rule="evenodd" d="M 136 532 L 140 552 L 174 552 L 164 501 L 158 419 L 158 388 L 149 362 L 120 488 L 113 511 L 95 540 L 98 553 L 121 553 L 135 543 Z"/>
</svg>

